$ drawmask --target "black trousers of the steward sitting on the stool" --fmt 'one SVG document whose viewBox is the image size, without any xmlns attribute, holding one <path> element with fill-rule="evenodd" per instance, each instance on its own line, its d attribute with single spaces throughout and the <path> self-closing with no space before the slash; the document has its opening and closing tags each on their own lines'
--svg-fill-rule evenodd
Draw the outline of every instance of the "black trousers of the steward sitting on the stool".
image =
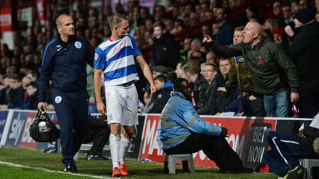
<svg viewBox="0 0 319 179">
<path fill-rule="evenodd" d="M 220 169 L 226 171 L 243 169 L 241 159 L 229 146 L 225 137 L 191 133 L 182 143 L 163 151 L 166 154 L 192 154 L 201 150 Z"/>
</svg>

